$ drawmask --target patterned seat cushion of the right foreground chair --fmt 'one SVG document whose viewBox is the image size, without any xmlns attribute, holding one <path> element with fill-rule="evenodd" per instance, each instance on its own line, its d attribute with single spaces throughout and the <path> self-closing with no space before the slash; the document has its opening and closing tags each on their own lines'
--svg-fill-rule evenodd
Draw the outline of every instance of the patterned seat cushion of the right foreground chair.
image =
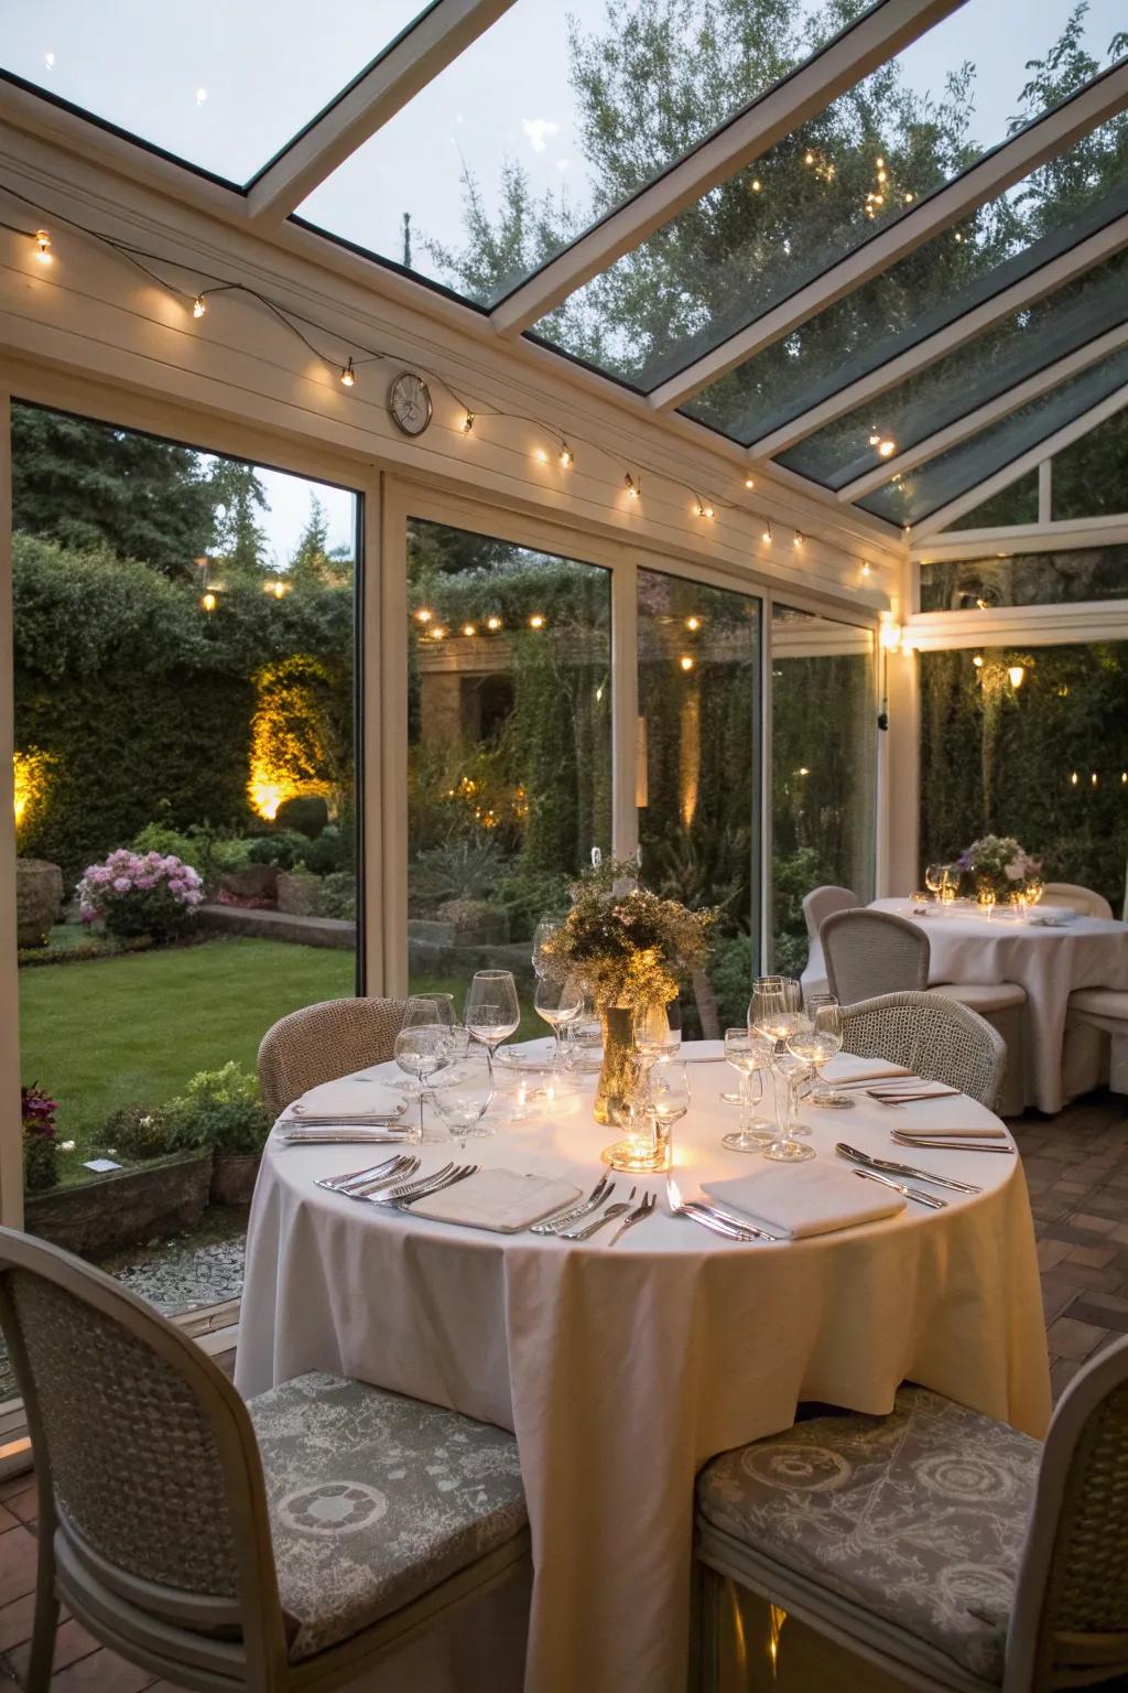
<svg viewBox="0 0 1128 1693">
<path fill-rule="evenodd" d="M 920 1387 L 888 1417 L 815 1417 L 714 1458 L 705 1524 L 972 1676 L 1003 1676 L 1042 1446 Z"/>
</svg>

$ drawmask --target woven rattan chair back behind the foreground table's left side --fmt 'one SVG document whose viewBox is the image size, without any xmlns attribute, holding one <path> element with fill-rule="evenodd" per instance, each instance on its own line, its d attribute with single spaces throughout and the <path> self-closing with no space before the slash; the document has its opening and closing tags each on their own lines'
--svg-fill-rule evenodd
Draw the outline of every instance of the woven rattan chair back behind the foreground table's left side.
<svg viewBox="0 0 1128 1693">
<path fill-rule="evenodd" d="M 266 1031 L 259 1090 L 274 1116 L 320 1082 L 387 1063 L 404 1021 L 402 999 L 325 999 Z"/>
</svg>

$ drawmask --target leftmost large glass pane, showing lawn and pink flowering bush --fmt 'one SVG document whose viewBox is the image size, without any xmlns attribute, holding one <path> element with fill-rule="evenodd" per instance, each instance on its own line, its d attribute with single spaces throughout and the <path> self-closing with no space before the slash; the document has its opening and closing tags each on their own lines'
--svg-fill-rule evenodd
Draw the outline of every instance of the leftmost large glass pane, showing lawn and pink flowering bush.
<svg viewBox="0 0 1128 1693">
<path fill-rule="evenodd" d="M 30 406 L 12 449 L 27 1227 L 208 1305 L 247 1212 L 159 1160 L 254 1153 L 262 1036 L 357 992 L 359 499 Z"/>
</svg>

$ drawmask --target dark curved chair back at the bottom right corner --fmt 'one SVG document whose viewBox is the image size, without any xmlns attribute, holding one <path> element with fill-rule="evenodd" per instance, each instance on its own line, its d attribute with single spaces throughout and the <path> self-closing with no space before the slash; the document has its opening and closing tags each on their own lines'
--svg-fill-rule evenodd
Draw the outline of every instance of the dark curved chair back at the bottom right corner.
<svg viewBox="0 0 1128 1693">
<path fill-rule="evenodd" d="M 1005 1693 L 1128 1674 L 1128 1336 L 1050 1424 L 1006 1641 Z M 1116 1681 L 1120 1686 L 1120 1681 Z"/>
</svg>

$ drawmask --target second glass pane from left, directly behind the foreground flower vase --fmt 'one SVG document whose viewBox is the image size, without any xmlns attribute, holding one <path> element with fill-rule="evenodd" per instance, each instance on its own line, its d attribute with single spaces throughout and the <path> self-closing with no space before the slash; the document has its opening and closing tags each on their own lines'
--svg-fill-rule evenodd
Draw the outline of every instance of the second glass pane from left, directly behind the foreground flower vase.
<svg viewBox="0 0 1128 1693">
<path fill-rule="evenodd" d="M 462 1007 L 479 968 L 531 977 L 538 919 L 611 852 L 611 574 L 413 520 L 408 594 L 411 987 Z"/>
</svg>

